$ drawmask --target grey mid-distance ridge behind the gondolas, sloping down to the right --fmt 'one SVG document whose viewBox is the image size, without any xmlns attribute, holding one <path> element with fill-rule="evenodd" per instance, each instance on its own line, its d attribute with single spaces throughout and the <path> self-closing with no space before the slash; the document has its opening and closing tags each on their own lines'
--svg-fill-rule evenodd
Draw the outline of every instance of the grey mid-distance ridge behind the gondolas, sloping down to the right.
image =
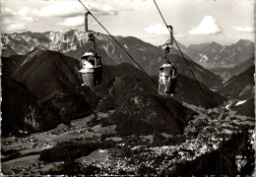
<svg viewBox="0 0 256 177">
<path fill-rule="evenodd" d="M 125 49 L 134 57 L 135 60 L 144 68 L 150 75 L 156 75 L 159 73 L 159 67 L 165 62 L 163 59 L 163 50 L 160 47 L 156 47 L 150 43 L 146 43 L 135 37 L 118 37 L 120 43 L 124 44 Z M 134 45 L 136 43 L 136 45 Z M 99 41 L 96 45 L 96 51 L 102 57 L 102 62 L 109 64 L 119 63 L 131 63 L 133 61 L 127 56 L 116 43 L 106 45 L 105 41 Z M 81 47 L 74 51 L 66 53 L 68 56 L 80 59 L 85 53 L 87 47 Z M 90 47 L 88 47 L 90 48 Z M 105 50 L 107 48 L 107 50 Z M 114 52 L 113 52 L 114 51 Z M 188 66 L 186 65 L 180 53 L 174 48 L 170 50 L 168 58 L 177 67 L 180 74 L 193 79 Z M 187 58 L 192 71 L 197 76 L 198 80 L 204 83 L 208 87 L 218 86 L 222 83 L 221 77 L 206 70 L 202 66 L 194 63 L 191 59 Z M 135 64 L 134 64 L 135 65 Z M 136 66 L 136 65 L 135 65 Z M 137 66 L 136 66 L 137 67 Z"/>
</svg>

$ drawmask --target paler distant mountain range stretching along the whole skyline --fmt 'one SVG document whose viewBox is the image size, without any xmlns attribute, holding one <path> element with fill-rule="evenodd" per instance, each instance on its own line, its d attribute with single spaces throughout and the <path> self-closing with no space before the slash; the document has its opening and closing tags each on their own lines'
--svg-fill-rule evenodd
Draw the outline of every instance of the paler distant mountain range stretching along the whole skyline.
<svg viewBox="0 0 256 177">
<path fill-rule="evenodd" d="M 95 35 L 96 49 L 104 55 L 105 60 L 103 62 L 105 64 L 131 62 L 109 35 L 99 32 L 95 32 Z M 145 65 L 146 70 L 150 74 L 156 72 L 152 69 L 152 65 L 158 66 L 159 62 L 163 61 L 164 51 L 161 47 L 154 46 L 132 36 L 115 36 L 115 38 L 127 51 L 133 53 L 133 56 L 139 63 Z M 48 50 L 67 53 L 69 56 L 80 59 L 81 52 L 83 53 L 87 48 L 90 48 L 87 33 L 78 29 L 1 33 L 1 39 L 3 44 L 2 56 L 13 54 L 25 55 L 34 48 L 42 47 Z M 180 42 L 178 42 L 178 45 L 188 60 L 192 59 L 207 69 L 230 68 L 254 56 L 254 43 L 247 39 L 240 39 L 230 45 L 222 45 L 214 41 L 211 43 L 190 44 L 188 47 Z M 180 56 L 175 44 L 170 53 Z M 142 58 L 137 58 L 141 56 Z"/>
</svg>

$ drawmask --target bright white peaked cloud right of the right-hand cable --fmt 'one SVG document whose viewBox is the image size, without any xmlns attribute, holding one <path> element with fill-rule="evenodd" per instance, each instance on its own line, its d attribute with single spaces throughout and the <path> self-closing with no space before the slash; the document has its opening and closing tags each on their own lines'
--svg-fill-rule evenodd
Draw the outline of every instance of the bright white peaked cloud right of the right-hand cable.
<svg viewBox="0 0 256 177">
<path fill-rule="evenodd" d="M 199 26 L 194 29 L 188 31 L 188 33 L 192 35 L 208 35 L 208 34 L 216 34 L 222 33 L 224 29 L 222 29 L 213 18 L 213 16 L 205 16 Z"/>
</svg>

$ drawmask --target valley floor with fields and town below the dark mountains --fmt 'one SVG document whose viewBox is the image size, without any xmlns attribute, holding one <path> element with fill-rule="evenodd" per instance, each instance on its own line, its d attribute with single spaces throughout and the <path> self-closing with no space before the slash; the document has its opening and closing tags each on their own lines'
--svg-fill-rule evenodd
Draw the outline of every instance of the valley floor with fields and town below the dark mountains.
<svg viewBox="0 0 256 177">
<path fill-rule="evenodd" d="M 207 110 L 194 105 L 186 107 L 198 115 L 188 122 L 183 135 L 157 133 L 148 136 L 117 137 L 115 126 L 100 125 L 108 113 L 96 112 L 89 117 L 73 120 L 69 126 L 32 134 L 23 138 L 2 138 L 2 173 L 5 175 L 39 175 L 57 172 L 64 161 L 45 162 L 39 160 L 40 152 L 53 148 L 61 142 L 72 144 L 110 143 L 111 148 L 96 148 L 74 162 L 80 167 L 95 166 L 101 175 L 109 174 L 163 174 L 175 169 L 177 163 L 191 161 L 218 149 L 233 132 L 249 129 L 251 144 L 254 144 L 255 120 L 236 115 L 228 109 L 232 101 L 223 107 Z"/>
</svg>

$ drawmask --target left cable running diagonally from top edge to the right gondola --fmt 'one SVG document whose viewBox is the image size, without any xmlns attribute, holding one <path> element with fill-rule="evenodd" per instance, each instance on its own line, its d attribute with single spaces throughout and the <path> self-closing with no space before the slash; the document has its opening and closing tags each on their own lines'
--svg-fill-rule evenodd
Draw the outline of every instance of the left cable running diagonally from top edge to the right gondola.
<svg viewBox="0 0 256 177">
<path fill-rule="evenodd" d="M 130 57 L 131 60 L 146 74 L 146 76 L 157 86 L 159 86 L 153 78 L 139 65 L 139 63 L 133 58 L 133 56 L 128 53 L 128 51 L 125 50 L 125 48 L 115 39 L 115 37 L 107 30 L 104 28 L 104 26 L 96 19 L 96 17 L 93 15 L 93 13 L 79 0 L 79 2 L 84 6 L 84 8 L 91 14 L 91 16 L 96 20 L 97 24 L 104 29 L 108 35 L 120 46 L 120 48 Z"/>
</svg>

